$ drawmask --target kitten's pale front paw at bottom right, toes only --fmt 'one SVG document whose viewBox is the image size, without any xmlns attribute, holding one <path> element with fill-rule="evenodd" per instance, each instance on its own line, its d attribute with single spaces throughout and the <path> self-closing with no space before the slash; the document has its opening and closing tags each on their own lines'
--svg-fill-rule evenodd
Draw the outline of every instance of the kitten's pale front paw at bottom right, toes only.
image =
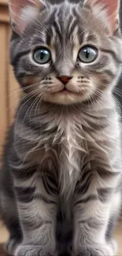
<svg viewBox="0 0 122 256">
<path fill-rule="evenodd" d="M 114 256 L 113 250 L 109 246 L 84 247 L 77 256 Z"/>
</svg>

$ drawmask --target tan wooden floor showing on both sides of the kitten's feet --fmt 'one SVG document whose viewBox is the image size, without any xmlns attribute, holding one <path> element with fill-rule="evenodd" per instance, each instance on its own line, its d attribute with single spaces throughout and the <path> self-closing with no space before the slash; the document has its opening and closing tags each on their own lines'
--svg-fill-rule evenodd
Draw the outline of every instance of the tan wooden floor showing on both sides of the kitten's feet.
<svg viewBox="0 0 122 256">
<path fill-rule="evenodd" d="M 6 231 L 6 228 L 3 228 L 1 225 L 0 226 L 0 243 L 1 243 L 0 256 L 5 256 L 2 249 L 2 243 L 4 243 L 8 237 L 9 237 L 9 234 Z M 122 221 L 120 221 L 120 223 L 118 224 L 118 227 L 116 228 L 115 237 L 119 244 L 119 250 L 118 250 L 117 256 L 122 256 Z"/>
</svg>

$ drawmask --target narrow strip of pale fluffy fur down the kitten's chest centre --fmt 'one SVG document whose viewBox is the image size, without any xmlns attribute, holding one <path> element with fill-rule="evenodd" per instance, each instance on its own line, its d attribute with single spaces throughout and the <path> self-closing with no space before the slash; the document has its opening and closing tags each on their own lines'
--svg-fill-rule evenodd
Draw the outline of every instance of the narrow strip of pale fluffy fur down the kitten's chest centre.
<svg viewBox="0 0 122 256">
<path fill-rule="evenodd" d="M 76 182 L 82 171 L 83 155 L 86 154 L 86 140 L 82 125 L 80 128 L 68 122 L 65 126 L 65 135 L 61 141 L 59 154 L 59 176 L 61 191 L 74 191 Z"/>
</svg>

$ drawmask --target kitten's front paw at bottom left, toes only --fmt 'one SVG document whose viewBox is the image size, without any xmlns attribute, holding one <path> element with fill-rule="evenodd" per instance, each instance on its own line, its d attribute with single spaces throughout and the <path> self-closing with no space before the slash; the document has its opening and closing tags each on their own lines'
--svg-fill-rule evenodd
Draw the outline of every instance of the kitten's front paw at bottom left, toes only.
<svg viewBox="0 0 122 256">
<path fill-rule="evenodd" d="M 57 256 L 56 252 L 52 253 L 41 248 L 41 246 L 20 245 L 14 252 L 14 256 Z"/>
</svg>

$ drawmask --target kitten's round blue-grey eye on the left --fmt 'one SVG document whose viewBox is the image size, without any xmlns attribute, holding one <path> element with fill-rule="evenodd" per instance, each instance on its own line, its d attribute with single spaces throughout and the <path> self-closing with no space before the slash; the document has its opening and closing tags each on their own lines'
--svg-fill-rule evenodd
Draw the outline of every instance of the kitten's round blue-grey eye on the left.
<svg viewBox="0 0 122 256">
<path fill-rule="evenodd" d="M 50 50 L 46 48 L 38 48 L 35 50 L 33 54 L 34 61 L 36 61 L 39 64 L 46 64 L 50 61 L 51 54 Z"/>
</svg>

